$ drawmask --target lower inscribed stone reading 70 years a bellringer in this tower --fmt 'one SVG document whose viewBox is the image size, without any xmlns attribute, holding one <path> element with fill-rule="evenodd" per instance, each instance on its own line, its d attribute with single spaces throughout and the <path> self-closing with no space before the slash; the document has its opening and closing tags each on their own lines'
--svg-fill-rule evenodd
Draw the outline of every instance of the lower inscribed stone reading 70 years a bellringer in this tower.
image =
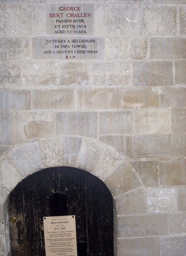
<svg viewBox="0 0 186 256">
<path fill-rule="evenodd" d="M 104 60 L 102 38 L 36 37 L 32 48 L 34 60 Z"/>
</svg>

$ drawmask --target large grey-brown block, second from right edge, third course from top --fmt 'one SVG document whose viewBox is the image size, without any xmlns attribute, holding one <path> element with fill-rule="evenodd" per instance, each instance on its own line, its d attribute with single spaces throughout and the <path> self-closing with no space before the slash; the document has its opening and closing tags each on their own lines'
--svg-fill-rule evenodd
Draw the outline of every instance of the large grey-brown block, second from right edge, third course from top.
<svg viewBox="0 0 186 256">
<path fill-rule="evenodd" d="M 133 76 L 138 76 L 134 78 L 138 86 L 173 85 L 173 64 L 170 61 L 133 62 Z"/>
</svg>

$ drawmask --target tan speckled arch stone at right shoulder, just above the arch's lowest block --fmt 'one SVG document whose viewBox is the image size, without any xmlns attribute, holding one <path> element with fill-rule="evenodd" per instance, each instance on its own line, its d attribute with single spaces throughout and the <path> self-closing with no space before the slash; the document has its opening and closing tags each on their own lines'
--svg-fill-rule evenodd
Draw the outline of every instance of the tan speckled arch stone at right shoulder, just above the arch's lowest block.
<svg viewBox="0 0 186 256">
<path fill-rule="evenodd" d="M 106 177 L 104 182 L 110 189 L 114 198 L 123 194 L 126 196 L 128 194 L 133 195 L 135 191 L 132 193 L 130 191 L 141 186 L 138 176 L 134 172 L 132 166 L 127 162 L 123 162 L 118 168 L 116 168 L 109 176 Z"/>
</svg>

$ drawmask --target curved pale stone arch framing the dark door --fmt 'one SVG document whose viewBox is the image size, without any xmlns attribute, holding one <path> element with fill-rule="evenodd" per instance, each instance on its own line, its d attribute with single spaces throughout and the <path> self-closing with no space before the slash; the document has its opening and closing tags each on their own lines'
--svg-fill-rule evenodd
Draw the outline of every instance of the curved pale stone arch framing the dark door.
<svg viewBox="0 0 186 256">
<path fill-rule="evenodd" d="M 23 179 L 41 169 L 58 166 L 80 168 L 106 184 L 113 195 L 115 256 L 120 251 L 117 216 L 146 213 L 146 196 L 140 177 L 114 148 L 98 140 L 75 135 L 35 138 L 3 151 L 1 160 L 2 256 L 7 256 L 10 251 L 9 194 Z M 130 191 L 134 188 L 140 194 L 132 195 Z"/>
</svg>

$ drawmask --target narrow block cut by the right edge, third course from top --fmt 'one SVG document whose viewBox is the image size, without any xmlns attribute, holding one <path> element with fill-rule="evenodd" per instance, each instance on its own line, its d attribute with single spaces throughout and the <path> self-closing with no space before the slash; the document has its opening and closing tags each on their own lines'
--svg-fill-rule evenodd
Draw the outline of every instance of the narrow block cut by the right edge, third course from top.
<svg viewBox="0 0 186 256">
<path fill-rule="evenodd" d="M 186 61 L 175 61 L 175 84 L 186 85 Z"/>
</svg>

